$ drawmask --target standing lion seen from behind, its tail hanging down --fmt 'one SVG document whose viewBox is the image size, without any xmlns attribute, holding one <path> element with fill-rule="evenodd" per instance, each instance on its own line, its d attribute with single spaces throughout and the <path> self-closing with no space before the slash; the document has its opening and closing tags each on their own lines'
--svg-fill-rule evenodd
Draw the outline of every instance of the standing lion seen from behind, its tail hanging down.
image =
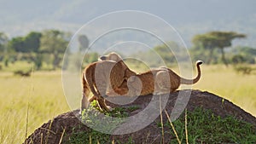
<svg viewBox="0 0 256 144">
<path fill-rule="evenodd" d="M 103 110 L 109 112 L 110 109 L 103 96 L 111 89 L 118 89 L 122 84 L 127 83 L 128 78 L 136 74 L 115 53 L 102 56 L 101 60 L 86 66 L 82 74 L 81 111 L 89 106 L 89 102 L 96 100 Z M 90 91 L 93 94 L 92 98 L 89 98 Z"/>
</svg>

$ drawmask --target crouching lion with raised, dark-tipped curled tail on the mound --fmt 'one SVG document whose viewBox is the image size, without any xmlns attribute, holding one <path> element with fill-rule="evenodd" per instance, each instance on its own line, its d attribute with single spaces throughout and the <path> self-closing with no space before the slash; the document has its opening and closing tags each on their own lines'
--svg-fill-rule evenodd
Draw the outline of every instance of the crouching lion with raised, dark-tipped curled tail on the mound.
<svg viewBox="0 0 256 144">
<path fill-rule="evenodd" d="M 196 62 L 198 74 L 194 79 L 181 78 L 171 69 L 162 67 L 137 74 L 136 77 L 131 77 L 128 79 L 127 83 L 123 83 L 118 89 L 109 91 L 107 95 L 117 96 L 118 94 L 135 96 L 138 91 L 140 91 L 139 95 L 167 94 L 175 91 L 180 84 L 197 83 L 201 78 L 201 64 L 201 60 Z"/>
</svg>

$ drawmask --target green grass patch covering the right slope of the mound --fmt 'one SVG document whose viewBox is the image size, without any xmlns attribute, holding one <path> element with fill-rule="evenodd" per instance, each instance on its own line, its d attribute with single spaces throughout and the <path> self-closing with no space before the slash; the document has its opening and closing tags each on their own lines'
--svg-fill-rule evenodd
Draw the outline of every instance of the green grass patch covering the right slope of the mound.
<svg viewBox="0 0 256 144">
<path fill-rule="evenodd" d="M 187 118 L 186 118 L 187 117 Z M 186 125 L 187 120 L 187 126 Z M 174 126 L 175 125 L 175 130 Z M 177 135 L 172 143 L 255 143 L 256 127 L 232 116 L 220 118 L 201 107 L 168 124 L 171 135 Z M 177 131 L 177 132 L 175 132 Z M 189 131 L 189 135 L 187 134 Z"/>
</svg>

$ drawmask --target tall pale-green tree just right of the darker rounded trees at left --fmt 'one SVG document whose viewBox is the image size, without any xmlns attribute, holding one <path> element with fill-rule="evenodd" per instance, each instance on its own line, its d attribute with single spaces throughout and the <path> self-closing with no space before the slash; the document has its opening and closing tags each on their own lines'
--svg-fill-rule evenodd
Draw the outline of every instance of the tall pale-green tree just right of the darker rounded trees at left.
<svg viewBox="0 0 256 144">
<path fill-rule="evenodd" d="M 62 55 L 64 54 L 70 35 L 58 30 L 45 30 L 40 39 L 40 51 L 53 55 L 53 68 L 55 69 L 61 63 Z"/>
</svg>

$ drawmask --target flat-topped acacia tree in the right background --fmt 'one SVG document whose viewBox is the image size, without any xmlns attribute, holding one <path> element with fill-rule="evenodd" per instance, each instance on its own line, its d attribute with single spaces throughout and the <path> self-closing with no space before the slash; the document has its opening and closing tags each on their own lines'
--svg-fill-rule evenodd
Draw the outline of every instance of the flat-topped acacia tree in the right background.
<svg viewBox="0 0 256 144">
<path fill-rule="evenodd" d="M 221 60 L 224 62 L 226 66 L 228 66 L 228 62 L 225 59 L 224 48 L 230 47 L 232 45 L 232 40 L 235 38 L 244 38 L 245 34 L 236 33 L 236 32 L 207 32 L 201 35 L 195 35 L 193 37 L 192 42 L 195 45 L 201 44 L 201 46 L 205 49 L 210 49 L 212 52 L 213 49 L 218 48 L 221 51 Z M 210 57 L 211 59 L 211 52 Z"/>
</svg>

